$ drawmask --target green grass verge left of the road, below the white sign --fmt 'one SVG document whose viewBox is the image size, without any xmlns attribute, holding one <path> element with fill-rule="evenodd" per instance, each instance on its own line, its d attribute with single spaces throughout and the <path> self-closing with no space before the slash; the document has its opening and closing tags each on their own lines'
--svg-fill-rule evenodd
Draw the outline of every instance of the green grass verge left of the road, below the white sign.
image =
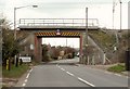
<svg viewBox="0 0 130 89">
<path fill-rule="evenodd" d="M 29 66 L 26 64 L 23 64 L 18 67 L 15 67 L 14 65 L 11 66 L 11 71 L 6 71 L 5 68 L 2 69 L 2 77 L 5 78 L 20 78 L 24 73 L 29 69 Z"/>
</svg>

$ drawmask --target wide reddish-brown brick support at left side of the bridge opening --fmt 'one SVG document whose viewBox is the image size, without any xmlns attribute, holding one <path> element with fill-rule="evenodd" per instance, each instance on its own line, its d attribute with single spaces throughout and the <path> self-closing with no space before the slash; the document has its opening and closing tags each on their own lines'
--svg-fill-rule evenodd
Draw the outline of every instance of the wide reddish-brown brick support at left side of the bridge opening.
<svg viewBox="0 0 130 89">
<path fill-rule="evenodd" d="M 35 36 L 35 59 L 37 62 L 41 62 L 42 60 L 41 42 L 42 42 L 42 38 Z"/>
</svg>

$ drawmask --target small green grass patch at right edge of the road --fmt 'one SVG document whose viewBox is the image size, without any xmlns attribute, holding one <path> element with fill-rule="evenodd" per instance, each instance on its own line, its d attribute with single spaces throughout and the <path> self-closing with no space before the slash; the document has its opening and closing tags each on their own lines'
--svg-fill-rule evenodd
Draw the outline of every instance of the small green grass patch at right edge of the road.
<svg viewBox="0 0 130 89">
<path fill-rule="evenodd" d="M 117 64 L 107 68 L 109 72 L 121 73 L 125 72 L 125 64 Z"/>
</svg>

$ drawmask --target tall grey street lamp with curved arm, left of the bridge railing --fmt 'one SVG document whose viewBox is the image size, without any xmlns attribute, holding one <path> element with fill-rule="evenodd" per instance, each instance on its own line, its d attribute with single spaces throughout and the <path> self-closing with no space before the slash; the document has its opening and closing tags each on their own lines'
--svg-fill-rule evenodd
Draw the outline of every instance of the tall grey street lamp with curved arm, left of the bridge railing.
<svg viewBox="0 0 130 89">
<path fill-rule="evenodd" d="M 16 10 L 27 8 L 27 7 L 37 8 L 38 5 L 25 5 L 25 7 L 14 8 L 14 39 L 15 40 L 16 40 Z"/>
</svg>

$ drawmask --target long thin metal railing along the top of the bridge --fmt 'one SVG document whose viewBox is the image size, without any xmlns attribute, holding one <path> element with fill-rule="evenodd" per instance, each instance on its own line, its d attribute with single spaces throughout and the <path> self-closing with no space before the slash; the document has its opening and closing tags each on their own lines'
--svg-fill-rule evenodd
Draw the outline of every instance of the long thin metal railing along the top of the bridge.
<svg viewBox="0 0 130 89">
<path fill-rule="evenodd" d="M 86 18 L 20 18 L 21 26 L 86 26 Z M 88 26 L 99 26 L 98 18 L 88 18 Z"/>
</svg>

